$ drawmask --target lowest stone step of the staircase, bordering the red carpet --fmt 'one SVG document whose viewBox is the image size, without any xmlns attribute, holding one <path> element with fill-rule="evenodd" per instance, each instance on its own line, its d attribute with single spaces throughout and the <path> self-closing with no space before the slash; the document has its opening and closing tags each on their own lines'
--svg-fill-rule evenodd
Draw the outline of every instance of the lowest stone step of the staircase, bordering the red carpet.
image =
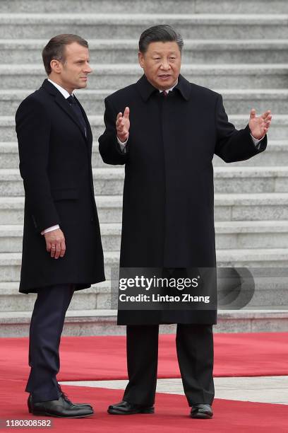
<svg viewBox="0 0 288 433">
<path fill-rule="evenodd" d="M 0 313 L 1 337 L 28 337 L 31 313 Z M 215 333 L 287 332 L 285 309 L 219 310 Z M 160 333 L 176 333 L 176 325 L 161 325 Z M 126 326 L 116 325 L 115 310 L 68 310 L 62 335 L 125 335 Z"/>
</svg>

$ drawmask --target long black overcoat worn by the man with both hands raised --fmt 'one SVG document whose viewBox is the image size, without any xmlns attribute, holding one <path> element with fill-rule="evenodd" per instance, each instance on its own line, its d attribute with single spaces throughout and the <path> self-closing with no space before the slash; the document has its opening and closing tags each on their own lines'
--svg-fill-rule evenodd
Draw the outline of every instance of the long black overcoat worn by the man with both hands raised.
<svg viewBox="0 0 288 433">
<path fill-rule="evenodd" d="M 126 153 L 116 140 L 118 112 L 130 108 Z M 105 163 L 125 164 L 121 267 L 215 267 L 212 158 L 244 161 L 256 148 L 236 130 L 222 96 L 183 76 L 165 98 L 145 76 L 105 100 L 100 137 Z M 216 287 L 215 287 L 216 291 Z M 119 311 L 119 324 L 216 323 L 217 311 Z"/>
</svg>

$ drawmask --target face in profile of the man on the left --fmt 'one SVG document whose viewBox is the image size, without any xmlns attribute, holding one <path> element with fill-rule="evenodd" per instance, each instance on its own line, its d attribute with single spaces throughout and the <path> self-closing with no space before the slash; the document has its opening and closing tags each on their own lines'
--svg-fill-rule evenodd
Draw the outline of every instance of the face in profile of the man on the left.
<svg viewBox="0 0 288 433">
<path fill-rule="evenodd" d="M 64 62 L 57 62 L 54 71 L 60 86 L 66 88 L 69 93 L 75 88 L 87 86 L 88 74 L 92 72 L 89 66 L 89 50 L 77 42 L 66 45 Z M 53 69 L 52 69 L 53 70 Z"/>
</svg>

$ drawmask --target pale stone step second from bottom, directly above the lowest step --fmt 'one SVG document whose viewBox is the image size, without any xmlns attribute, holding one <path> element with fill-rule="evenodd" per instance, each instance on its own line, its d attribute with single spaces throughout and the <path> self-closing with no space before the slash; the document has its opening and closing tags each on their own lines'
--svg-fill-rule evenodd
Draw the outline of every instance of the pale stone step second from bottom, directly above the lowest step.
<svg viewBox="0 0 288 433">
<path fill-rule="evenodd" d="M 250 270 L 253 275 L 253 270 Z M 218 271 L 219 273 L 219 271 Z M 249 294 L 245 308 L 287 308 L 287 275 L 253 277 L 255 289 Z M 19 282 L 0 282 L 0 313 L 4 311 L 32 311 L 35 294 L 20 294 Z M 252 296 L 252 297 L 251 297 Z M 224 308 L 221 279 L 218 279 L 219 308 Z M 247 301 L 248 301 L 247 299 Z M 114 305 L 114 304 L 113 304 Z M 228 304 L 227 304 L 228 306 Z M 76 291 L 70 310 L 109 309 L 111 306 L 111 281 L 94 284 L 90 289 Z"/>
</svg>

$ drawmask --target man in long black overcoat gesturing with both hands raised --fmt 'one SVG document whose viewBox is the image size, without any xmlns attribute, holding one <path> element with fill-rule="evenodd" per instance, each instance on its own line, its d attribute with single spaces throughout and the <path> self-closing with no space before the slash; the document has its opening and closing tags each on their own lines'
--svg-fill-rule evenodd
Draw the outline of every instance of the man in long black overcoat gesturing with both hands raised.
<svg viewBox="0 0 288 433">
<path fill-rule="evenodd" d="M 270 111 L 236 130 L 222 96 L 180 74 L 183 40 L 169 25 L 145 30 L 139 41 L 144 75 L 105 100 L 100 137 L 105 163 L 125 164 L 122 268 L 162 267 L 173 275 L 215 268 L 213 168 L 265 150 Z M 216 284 L 214 287 L 216 292 Z M 212 417 L 212 325 L 217 309 L 119 310 L 127 325 L 128 386 L 111 414 L 152 413 L 160 323 L 177 323 L 176 350 L 191 416 Z"/>
</svg>

